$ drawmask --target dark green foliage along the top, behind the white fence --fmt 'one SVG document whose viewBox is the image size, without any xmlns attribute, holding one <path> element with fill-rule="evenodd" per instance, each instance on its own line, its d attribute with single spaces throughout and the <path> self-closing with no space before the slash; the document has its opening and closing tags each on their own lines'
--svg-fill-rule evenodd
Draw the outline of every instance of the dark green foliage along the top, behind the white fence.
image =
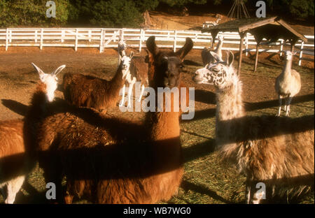
<svg viewBox="0 0 315 218">
<path fill-rule="evenodd" d="M 0 27 L 58 27 L 66 24 L 102 27 L 139 27 L 146 10 L 159 6 L 188 9 L 209 4 L 226 8 L 231 0 L 54 0 L 56 17 L 46 17 L 47 0 L 0 0 Z M 314 19 L 314 1 L 265 0 L 267 14 L 295 19 Z M 255 10 L 253 2 L 244 0 L 248 9 Z M 217 8 L 217 7 L 216 7 Z M 165 8 L 167 9 L 167 8 Z M 211 12 L 211 8 L 209 8 Z"/>
</svg>

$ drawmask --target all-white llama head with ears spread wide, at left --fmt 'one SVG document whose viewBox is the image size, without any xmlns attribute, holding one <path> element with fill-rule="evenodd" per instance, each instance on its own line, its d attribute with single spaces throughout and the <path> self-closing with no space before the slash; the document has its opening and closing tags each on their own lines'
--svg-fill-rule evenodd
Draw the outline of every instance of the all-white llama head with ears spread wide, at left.
<svg viewBox="0 0 315 218">
<path fill-rule="evenodd" d="M 46 96 L 48 101 L 53 101 L 55 99 L 55 90 L 58 86 L 57 74 L 60 73 L 66 65 L 59 66 L 52 73 L 44 73 L 41 68 L 36 66 L 34 63 L 31 63 L 34 66 L 35 70 L 39 75 L 39 79 L 46 85 Z"/>
</svg>

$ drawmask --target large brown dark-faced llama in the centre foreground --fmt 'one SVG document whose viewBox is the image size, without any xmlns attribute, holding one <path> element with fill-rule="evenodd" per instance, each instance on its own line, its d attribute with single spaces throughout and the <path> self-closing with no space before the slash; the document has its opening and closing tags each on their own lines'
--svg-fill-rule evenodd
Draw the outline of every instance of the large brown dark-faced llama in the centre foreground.
<svg viewBox="0 0 315 218">
<path fill-rule="evenodd" d="M 155 92 L 158 87 L 179 87 L 181 59 L 193 41 L 187 38 L 177 52 L 160 51 L 154 36 L 146 45 L 154 59 L 150 86 Z M 173 95 L 170 99 L 171 106 L 179 103 Z M 43 119 L 38 151 L 45 181 L 55 182 L 57 201 L 64 196 L 65 203 L 72 203 L 75 196 L 93 203 L 167 201 L 183 176 L 179 112 L 174 108 L 147 112 L 144 123 L 90 108 L 65 108 Z M 61 187 L 64 175 L 66 194 Z"/>
</svg>

